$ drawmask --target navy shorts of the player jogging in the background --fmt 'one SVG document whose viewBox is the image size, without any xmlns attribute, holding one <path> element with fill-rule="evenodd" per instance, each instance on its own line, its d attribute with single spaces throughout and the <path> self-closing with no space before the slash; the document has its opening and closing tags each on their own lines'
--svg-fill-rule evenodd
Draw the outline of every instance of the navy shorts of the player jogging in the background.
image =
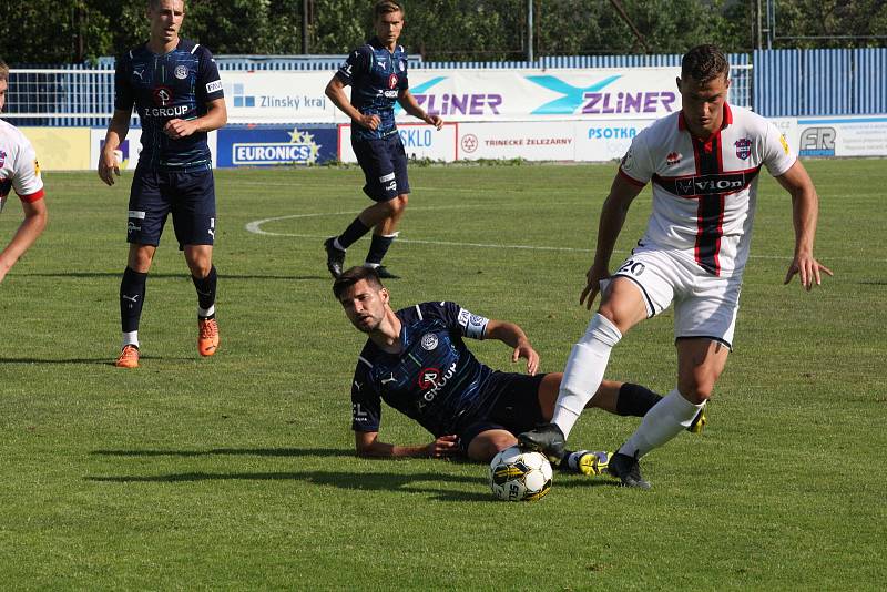
<svg viewBox="0 0 887 592">
<path fill-rule="evenodd" d="M 381 140 L 351 139 L 351 147 L 367 181 L 364 193 L 370 200 L 389 202 L 409 193 L 407 153 L 399 133 Z"/>
</svg>

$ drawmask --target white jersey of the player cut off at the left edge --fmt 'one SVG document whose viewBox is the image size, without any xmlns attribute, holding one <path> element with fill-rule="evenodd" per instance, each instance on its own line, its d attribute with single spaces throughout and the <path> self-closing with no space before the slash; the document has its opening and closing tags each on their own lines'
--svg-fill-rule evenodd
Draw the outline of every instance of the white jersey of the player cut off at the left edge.
<svg viewBox="0 0 887 592">
<path fill-rule="evenodd" d="M 43 197 L 43 181 L 33 146 L 14 125 L 0 120 L 0 211 L 10 191 L 22 202 Z"/>
</svg>

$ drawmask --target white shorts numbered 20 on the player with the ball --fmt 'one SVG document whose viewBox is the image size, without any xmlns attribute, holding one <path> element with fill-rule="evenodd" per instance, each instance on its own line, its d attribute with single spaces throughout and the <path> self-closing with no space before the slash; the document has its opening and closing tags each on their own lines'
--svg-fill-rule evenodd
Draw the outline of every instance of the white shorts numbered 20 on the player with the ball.
<svg viewBox="0 0 887 592">
<path fill-rule="evenodd" d="M 638 247 L 613 277 L 631 279 L 643 294 L 648 318 L 674 303 L 674 338 L 706 337 L 733 349 L 742 274 L 717 277 L 681 253 Z"/>
</svg>

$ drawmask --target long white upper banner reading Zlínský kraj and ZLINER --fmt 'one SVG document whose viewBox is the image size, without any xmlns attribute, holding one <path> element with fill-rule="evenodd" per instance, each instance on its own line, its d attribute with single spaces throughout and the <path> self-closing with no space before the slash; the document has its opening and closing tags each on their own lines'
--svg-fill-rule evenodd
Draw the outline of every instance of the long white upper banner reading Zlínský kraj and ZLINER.
<svg viewBox="0 0 887 592">
<path fill-rule="evenodd" d="M 447 121 L 657 119 L 681 109 L 677 68 L 412 70 L 410 92 Z M 232 123 L 347 123 L 324 95 L 333 72 L 225 72 Z M 350 92 L 350 91 L 346 91 Z M 399 121 L 409 118 L 399 106 Z"/>
</svg>

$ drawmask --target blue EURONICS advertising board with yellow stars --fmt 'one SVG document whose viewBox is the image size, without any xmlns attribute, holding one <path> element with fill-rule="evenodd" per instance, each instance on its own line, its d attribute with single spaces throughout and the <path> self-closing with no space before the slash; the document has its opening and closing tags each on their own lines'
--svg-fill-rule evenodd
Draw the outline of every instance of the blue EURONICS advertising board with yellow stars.
<svg viewBox="0 0 887 592">
<path fill-rule="evenodd" d="M 336 159 L 333 125 L 228 125 L 218 131 L 217 166 L 320 164 Z"/>
</svg>

